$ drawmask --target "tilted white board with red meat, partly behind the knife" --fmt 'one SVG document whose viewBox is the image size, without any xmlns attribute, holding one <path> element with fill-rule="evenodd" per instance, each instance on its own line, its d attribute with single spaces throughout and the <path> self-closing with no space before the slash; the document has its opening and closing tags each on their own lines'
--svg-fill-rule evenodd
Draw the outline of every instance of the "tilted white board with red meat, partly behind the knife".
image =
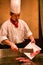
<svg viewBox="0 0 43 65">
<path fill-rule="evenodd" d="M 39 51 L 41 50 L 39 46 L 31 42 L 28 45 L 26 45 L 25 48 L 33 49 L 33 53 L 24 53 L 30 59 L 33 59 L 37 54 L 39 54 Z"/>
</svg>

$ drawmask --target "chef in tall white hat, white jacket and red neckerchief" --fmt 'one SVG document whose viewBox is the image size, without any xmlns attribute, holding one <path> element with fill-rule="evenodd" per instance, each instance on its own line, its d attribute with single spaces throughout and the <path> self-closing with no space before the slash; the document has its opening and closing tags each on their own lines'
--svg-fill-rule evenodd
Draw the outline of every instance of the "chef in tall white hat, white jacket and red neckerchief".
<svg viewBox="0 0 43 65">
<path fill-rule="evenodd" d="M 13 51 L 18 51 L 16 45 L 22 44 L 25 39 L 30 39 L 35 43 L 30 28 L 25 21 L 20 19 L 20 7 L 21 0 L 11 0 L 11 17 L 0 28 L 0 44 L 9 45 Z"/>
</svg>

